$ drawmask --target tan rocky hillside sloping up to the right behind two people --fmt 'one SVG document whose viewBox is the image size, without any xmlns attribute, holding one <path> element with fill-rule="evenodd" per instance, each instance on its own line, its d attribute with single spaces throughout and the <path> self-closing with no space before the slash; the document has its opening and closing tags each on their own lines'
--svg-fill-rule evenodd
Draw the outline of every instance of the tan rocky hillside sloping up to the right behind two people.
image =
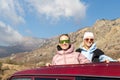
<svg viewBox="0 0 120 80">
<path fill-rule="evenodd" d="M 93 26 L 85 27 L 76 32 L 69 33 L 72 43 L 76 48 L 82 42 L 85 31 L 92 31 L 98 48 L 102 49 L 106 55 L 117 59 L 120 58 L 120 19 L 97 20 Z M 47 43 L 39 49 L 31 52 L 14 54 L 1 59 L 1 62 L 17 65 L 32 65 L 34 67 L 44 66 L 46 62 L 51 62 L 56 51 L 58 36 L 49 39 Z"/>
</svg>

